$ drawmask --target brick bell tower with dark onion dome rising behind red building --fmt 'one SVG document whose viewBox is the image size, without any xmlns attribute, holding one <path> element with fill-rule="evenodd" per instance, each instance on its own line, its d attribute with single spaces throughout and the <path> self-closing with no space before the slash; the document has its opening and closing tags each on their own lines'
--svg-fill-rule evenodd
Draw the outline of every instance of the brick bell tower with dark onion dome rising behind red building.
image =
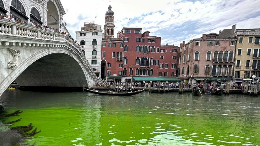
<svg viewBox="0 0 260 146">
<path fill-rule="evenodd" d="M 115 25 L 114 25 L 114 12 L 111 10 L 111 5 L 109 2 L 108 11 L 106 11 L 105 25 L 104 25 L 104 37 L 114 38 Z"/>
</svg>

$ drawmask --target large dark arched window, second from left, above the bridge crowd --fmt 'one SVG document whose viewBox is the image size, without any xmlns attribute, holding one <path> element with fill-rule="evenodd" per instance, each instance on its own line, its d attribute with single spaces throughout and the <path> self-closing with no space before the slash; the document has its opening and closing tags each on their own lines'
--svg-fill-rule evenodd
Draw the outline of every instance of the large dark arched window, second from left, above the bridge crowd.
<svg viewBox="0 0 260 146">
<path fill-rule="evenodd" d="M 13 15 L 13 18 L 18 18 L 19 21 L 23 19 L 24 24 L 27 25 L 27 20 L 29 18 L 26 16 L 26 12 L 21 1 L 12 0 L 10 5 L 10 14 Z"/>
</svg>

